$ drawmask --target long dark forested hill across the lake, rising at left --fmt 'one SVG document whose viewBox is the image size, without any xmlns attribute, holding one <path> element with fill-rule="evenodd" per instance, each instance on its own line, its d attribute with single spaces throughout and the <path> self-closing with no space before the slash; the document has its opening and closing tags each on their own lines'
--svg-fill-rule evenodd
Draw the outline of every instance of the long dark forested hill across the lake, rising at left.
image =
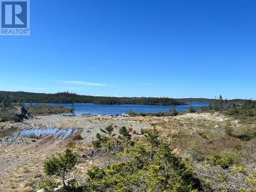
<svg viewBox="0 0 256 192">
<path fill-rule="evenodd" d="M 99 97 L 62 92 L 55 94 L 0 91 L 0 101 L 9 95 L 11 102 L 39 103 L 95 103 L 95 104 L 185 104 L 173 98 L 157 97 Z"/>
</svg>

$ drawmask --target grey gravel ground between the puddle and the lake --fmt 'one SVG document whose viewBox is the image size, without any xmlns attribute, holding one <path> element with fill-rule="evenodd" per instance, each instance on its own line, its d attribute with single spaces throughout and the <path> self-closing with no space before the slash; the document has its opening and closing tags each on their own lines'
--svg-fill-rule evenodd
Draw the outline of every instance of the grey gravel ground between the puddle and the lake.
<svg viewBox="0 0 256 192">
<path fill-rule="evenodd" d="M 22 122 L 4 122 L 0 123 L 0 127 L 5 129 L 78 129 L 83 137 L 83 141 L 90 143 L 95 138 L 96 133 L 100 133 L 100 128 L 104 128 L 109 124 L 115 127 L 114 132 L 118 132 L 121 126 L 132 129 L 136 133 L 140 133 L 141 128 L 147 129 L 152 127 L 147 123 L 133 121 L 130 117 L 86 117 L 77 116 L 37 116 L 33 119 L 24 120 Z M 0 128 L 1 131 L 1 128 Z"/>
</svg>

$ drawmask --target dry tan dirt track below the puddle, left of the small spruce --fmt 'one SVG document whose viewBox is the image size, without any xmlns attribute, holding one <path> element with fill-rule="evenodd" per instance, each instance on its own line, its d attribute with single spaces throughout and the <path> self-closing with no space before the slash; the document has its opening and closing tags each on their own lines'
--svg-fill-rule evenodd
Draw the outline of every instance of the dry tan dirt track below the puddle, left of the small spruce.
<svg viewBox="0 0 256 192">
<path fill-rule="evenodd" d="M 66 141 L 48 136 L 0 148 L 0 191 L 31 191 L 32 179 L 42 174 L 42 163 L 50 154 L 63 151 Z"/>
</svg>

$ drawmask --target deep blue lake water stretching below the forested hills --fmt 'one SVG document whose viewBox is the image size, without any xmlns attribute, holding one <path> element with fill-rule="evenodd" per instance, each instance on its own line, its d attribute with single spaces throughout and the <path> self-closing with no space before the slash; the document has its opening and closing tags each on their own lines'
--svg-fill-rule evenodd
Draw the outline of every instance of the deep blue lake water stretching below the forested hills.
<svg viewBox="0 0 256 192">
<path fill-rule="evenodd" d="M 65 106 L 71 108 L 71 103 L 32 103 L 32 105 L 49 104 L 54 106 Z M 208 102 L 188 102 L 187 105 L 176 105 L 177 111 L 187 111 L 189 105 L 192 105 L 197 110 L 200 110 L 201 106 L 208 106 Z M 25 106 L 29 106 L 29 103 L 25 103 Z M 90 113 L 92 115 L 104 115 L 104 114 L 118 114 L 134 111 L 135 113 L 156 113 L 167 112 L 170 109 L 169 105 L 141 105 L 141 104 L 92 104 L 92 103 L 74 103 L 75 111 L 77 115 L 83 113 Z"/>
</svg>

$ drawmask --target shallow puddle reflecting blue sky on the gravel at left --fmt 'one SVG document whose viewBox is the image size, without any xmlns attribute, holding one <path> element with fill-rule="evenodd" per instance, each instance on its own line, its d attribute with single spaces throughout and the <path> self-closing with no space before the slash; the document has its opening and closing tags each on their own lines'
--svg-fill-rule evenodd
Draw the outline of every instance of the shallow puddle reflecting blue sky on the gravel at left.
<svg viewBox="0 0 256 192">
<path fill-rule="evenodd" d="M 58 139 L 65 139 L 69 135 L 74 135 L 77 129 L 31 129 L 31 130 L 18 130 L 18 129 L 8 129 L 0 131 L 1 137 L 18 137 L 18 136 L 28 136 L 34 134 L 36 137 L 40 135 L 55 135 Z"/>
</svg>

